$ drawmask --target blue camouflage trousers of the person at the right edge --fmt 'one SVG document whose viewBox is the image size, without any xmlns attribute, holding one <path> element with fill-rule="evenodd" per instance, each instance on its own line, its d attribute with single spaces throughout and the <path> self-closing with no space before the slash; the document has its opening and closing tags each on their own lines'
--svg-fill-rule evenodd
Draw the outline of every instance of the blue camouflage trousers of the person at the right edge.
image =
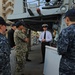
<svg viewBox="0 0 75 75">
<path fill-rule="evenodd" d="M 61 58 L 59 75 L 75 75 L 75 61 Z"/>
</svg>

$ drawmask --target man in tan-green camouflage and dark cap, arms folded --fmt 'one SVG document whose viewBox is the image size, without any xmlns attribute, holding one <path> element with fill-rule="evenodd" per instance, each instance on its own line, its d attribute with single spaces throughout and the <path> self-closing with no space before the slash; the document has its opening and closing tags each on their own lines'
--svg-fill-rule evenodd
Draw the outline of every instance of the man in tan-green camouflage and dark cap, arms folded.
<svg viewBox="0 0 75 75">
<path fill-rule="evenodd" d="M 25 56 L 28 51 L 27 45 L 29 39 L 22 32 L 24 25 L 21 21 L 16 23 L 16 30 L 14 32 L 14 42 L 15 42 L 15 51 L 16 51 L 16 72 L 15 75 L 24 75 L 24 65 L 25 65 Z"/>
</svg>

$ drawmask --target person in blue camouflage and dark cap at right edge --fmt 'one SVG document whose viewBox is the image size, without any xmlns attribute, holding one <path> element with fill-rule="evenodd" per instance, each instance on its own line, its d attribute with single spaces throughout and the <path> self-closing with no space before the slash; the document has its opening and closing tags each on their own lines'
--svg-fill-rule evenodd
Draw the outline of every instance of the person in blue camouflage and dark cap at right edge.
<svg viewBox="0 0 75 75">
<path fill-rule="evenodd" d="M 58 38 L 58 54 L 61 55 L 59 75 L 75 75 L 75 9 L 65 14 L 67 28 L 63 29 Z"/>
</svg>

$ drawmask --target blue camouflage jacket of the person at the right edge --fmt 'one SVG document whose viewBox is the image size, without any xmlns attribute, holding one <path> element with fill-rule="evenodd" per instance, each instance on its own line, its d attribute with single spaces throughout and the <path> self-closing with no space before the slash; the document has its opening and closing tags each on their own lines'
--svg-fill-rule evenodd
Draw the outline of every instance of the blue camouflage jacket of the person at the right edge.
<svg viewBox="0 0 75 75">
<path fill-rule="evenodd" d="M 75 24 L 62 30 L 58 38 L 58 53 L 75 61 Z"/>
</svg>

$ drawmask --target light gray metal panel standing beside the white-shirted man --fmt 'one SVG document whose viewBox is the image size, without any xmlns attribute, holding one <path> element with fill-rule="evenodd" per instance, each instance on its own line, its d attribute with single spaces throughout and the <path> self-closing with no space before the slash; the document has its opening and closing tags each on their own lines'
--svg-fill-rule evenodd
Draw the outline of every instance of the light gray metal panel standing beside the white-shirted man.
<svg viewBox="0 0 75 75">
<path fill-rule="evenodd" d="M 56 48 L 46 46 L 44 75 L 59 75 L 60 58 Z"/>
</svg>

